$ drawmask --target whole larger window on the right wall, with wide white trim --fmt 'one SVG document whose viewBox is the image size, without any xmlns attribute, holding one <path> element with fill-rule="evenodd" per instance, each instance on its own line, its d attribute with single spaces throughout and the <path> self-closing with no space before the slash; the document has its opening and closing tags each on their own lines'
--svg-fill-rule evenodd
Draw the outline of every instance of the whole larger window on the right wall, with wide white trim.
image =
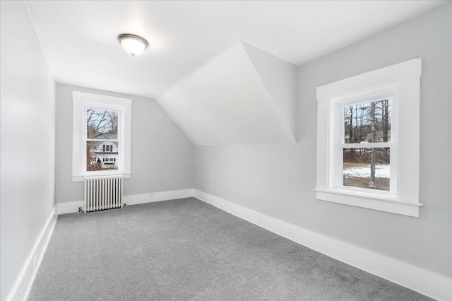
<svg viewBox="0 0 452 301">
<path fill-rule="evenodd" d="M 316 197 L 419 216 L 421 59 L 317 88 Z"/>
</svg>

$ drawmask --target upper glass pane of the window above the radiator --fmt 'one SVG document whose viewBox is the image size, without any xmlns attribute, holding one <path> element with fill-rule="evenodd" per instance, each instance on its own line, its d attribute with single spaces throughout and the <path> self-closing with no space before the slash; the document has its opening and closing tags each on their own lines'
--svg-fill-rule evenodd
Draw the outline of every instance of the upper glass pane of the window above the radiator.
<svg viewBox="0 0 452 301">
<path fill-rule="evenodd" d="M 86 110 L 86 133 L 92 139 L 118 138 L 118 112 L 100 109 Z"/>
</svg>

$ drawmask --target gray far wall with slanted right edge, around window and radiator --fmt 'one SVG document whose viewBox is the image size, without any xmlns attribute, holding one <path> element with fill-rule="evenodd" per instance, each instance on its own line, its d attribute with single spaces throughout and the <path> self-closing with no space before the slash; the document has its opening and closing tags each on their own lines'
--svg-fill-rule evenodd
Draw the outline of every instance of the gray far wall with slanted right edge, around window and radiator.
<svg viewBox="0 0 452 301">
<path fill-rule="evenodd" d="M 72 91 L 132 99 L 130 179 L 124 195 L 194 187 L 194 145 L 155 100 L 57 84 L 57 203 L 83 200 L 83 182 L 72 182 Z"/>
</svg>

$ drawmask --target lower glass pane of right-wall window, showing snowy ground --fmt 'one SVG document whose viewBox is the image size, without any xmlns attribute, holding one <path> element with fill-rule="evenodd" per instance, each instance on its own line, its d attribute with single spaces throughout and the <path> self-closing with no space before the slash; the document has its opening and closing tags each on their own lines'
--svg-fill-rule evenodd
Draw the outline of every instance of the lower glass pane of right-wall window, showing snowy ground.
<svg viewBox="0 0 452 301">
<path fill-rule="evenodd" d="M 344 148 L 343 186 L 389 191 L 389 148 Z"/>
</svg>

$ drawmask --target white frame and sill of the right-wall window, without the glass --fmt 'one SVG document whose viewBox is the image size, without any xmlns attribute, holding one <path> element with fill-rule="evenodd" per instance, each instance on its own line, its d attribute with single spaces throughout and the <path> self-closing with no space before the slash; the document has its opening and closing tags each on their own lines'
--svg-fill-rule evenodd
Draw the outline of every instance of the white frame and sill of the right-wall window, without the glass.
<svg viewBox="0 0 452 301">
<path fill-rule="evenodd" d="M 317 199 L 419 217 L 423 206 L 419 199 L 420 76 L 421 58 L 417 58 L 317 88 Z M 343 168 L 338 158 L 342 142 L 338 138 L 344 127 L 340 107 L 386 94 L 394 97 L 388 142 L 391 191 L 343 187 L 338 184 Z M 374 144 L 383 147 L 386 143 Z M 353 145 L 348 143 L 347 148 Z"/>
</svg>

